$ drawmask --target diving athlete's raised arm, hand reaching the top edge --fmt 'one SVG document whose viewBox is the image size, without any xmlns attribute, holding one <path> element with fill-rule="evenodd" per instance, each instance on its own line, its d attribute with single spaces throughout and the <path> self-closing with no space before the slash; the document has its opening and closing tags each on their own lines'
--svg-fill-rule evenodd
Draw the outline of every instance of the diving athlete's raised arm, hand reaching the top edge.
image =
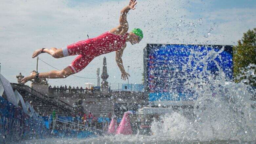
<svg viewBox="0 0 256 144">
<path fill-rule="evenodd" d="M 129 10 L 134 10 L 135 9 L 135 5 L 137 4 L 136 0 L 130 0 L 130 3 L 128 6 L 124 7 L 121 12 L 120 12 L 120 18 L 119 18 L 119 23 L 120 23 L 120 27 L 122 30 L 128 31 L 129 27 L 128 27 L 128 22 L 127 22 L 127 13 Z"/>
</svg>

